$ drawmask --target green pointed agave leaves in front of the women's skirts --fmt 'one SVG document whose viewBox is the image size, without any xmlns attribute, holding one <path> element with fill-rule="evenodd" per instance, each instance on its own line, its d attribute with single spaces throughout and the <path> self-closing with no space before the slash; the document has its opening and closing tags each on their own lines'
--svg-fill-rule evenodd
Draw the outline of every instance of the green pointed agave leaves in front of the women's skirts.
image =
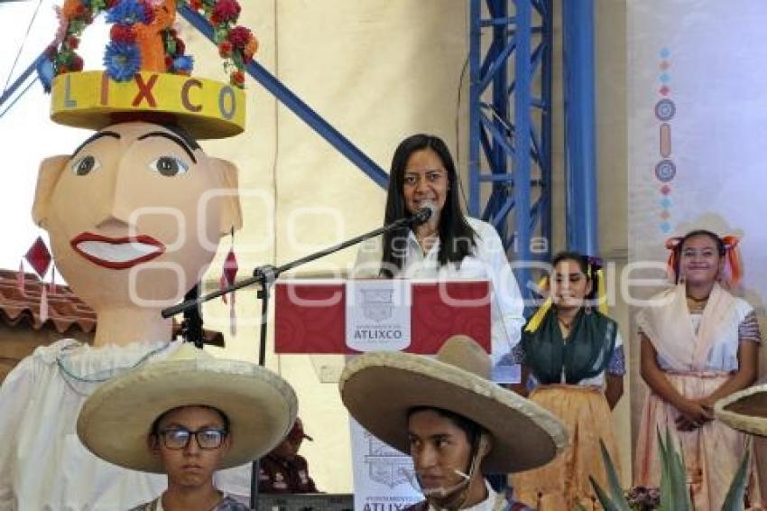
<svg viewBox="0 0 767 511">
<path fill-rule="evenodd" d="M 693 511 L 687 485 L 684 456 L 674 448 L 668 428 L 666 428 L 665 441 L 663 441 L 660 431 L 657 434 L 661 446 L 661 503 L 658 509 L 661 511 Z M 607 472 L 609 494 L 599 486 L 593 477 L 589 476 L 599 503 L 605 508 L 605 511 L 635 511 L 637 508 L 631 506 L 624 496 L 624 489 L 621 488 L 618 475 L 615 473 L 615 465 L 610 459 L 604 442 L 600 441 L 600 444 L 602 446 L 602 460 L 605 462 Z M 746 475 L 748 473 L 749 451 L 746 449 L 744 458 L 735 472 L 722 511 L 741 511 L 744 508 L 745 487 L 748 483 Z"/>
</svg>

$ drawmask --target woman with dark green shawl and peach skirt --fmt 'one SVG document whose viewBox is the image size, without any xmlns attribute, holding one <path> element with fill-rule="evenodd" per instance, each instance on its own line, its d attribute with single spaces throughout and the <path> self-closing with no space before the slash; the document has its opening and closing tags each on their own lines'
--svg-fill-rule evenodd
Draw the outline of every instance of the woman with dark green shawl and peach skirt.
<svg viewBox="0 0 767 511">
<path fill-rule="evenodd" d="M 592 309 L 596 260 L 574 252 L 554 257 L 550 296 L 532 316 L 514 358 L 522 383 L 514 390 L 568 426 L 570 446 L 540 469 L 514 475 L 515 496 L 540 511 L 596 505 L 589 476 L 605 487 L 599 441 L 618 463 L 611 409 L 624 391 L 623 340 L 615 321 Z M 529 385 L 528 385 L 529 384 Z"/>
</svg>

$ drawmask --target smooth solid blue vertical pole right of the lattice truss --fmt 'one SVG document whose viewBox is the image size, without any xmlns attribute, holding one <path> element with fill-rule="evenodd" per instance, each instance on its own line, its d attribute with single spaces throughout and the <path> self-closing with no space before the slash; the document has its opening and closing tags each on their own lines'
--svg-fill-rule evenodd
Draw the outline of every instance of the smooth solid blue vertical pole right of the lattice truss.
<svg viewBox="0 0 767 511">
<path fill-rule="evenodd" d="M 562 2 L 568 249 L 599 250 L 593 0 Z"/>
</svg>

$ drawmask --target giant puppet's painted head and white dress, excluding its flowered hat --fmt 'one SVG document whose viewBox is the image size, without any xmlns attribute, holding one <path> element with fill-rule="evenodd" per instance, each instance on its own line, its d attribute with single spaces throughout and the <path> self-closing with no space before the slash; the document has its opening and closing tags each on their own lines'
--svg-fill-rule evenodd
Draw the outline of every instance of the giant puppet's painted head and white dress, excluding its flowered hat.
<svg viewBox="0 0 767 511">
<path fill-rule="evenodd" d="M 216 190 L 226 193 L 210 196 Z M 169 221 L 170 211 L 183 221 Z M 178 346 L 152 340 L 172 337 L 161 310 L 180 302 L 218 239 L 241 226 L 236 167 L 166 126 L 110 125 L 42 163 L 32 216 L 72 291 L 97 312 L 97 330 L 93 347 L 62 339 L 38 348 L 0 386 L 0 511 L 138 506 L 167 488 L 166 477 L 87 451 L 79 410 L 99 383 Z M 227 480 L 218 488 L 248 493 Z"/>
</svg>

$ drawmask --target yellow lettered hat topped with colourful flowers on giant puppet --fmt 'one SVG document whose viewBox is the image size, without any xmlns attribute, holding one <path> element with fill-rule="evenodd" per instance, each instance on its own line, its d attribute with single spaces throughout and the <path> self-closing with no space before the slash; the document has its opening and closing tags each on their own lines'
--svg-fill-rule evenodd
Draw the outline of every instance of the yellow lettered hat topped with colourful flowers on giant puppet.
<svg viewBox="0 0 767 511">
<path fill-rule="evenodd" d="M 191 75 L 194 60 L 173 26 L 177 0 L 65 0 L 47 51 L 55 75 L 51 119 L 90 129 L 134 120 L 176 124 L 198 139 L 242 133 L 245 64 L 258 42 L 236 24 L 236 0 L 189 0 L 187 5 L 213 25 L 228 83 Z M 83 71 L 79 38 L 101 13 L 112 23 L 105 69 Z"/>
</svg>

